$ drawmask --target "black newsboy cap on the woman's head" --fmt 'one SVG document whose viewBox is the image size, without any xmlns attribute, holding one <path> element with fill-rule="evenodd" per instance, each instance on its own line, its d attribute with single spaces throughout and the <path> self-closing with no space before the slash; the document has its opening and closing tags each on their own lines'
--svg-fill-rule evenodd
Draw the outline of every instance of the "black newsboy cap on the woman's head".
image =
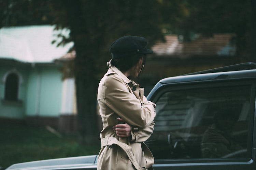
<svg viewBox="0 0 256 170">
<path fill-rule="evenodd" d="M 146 38 L 128 35 L 115 40 L 109 51 L 112 58 L 123 58 L 135 54 L 152 54 L 153 51 L 147 49 L 146 45 Z"/>
</svg>

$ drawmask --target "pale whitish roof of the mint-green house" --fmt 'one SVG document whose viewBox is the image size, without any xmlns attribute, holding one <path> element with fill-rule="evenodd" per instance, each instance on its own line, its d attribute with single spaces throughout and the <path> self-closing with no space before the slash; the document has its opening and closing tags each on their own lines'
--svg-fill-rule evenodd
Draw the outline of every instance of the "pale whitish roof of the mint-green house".
<svg viewBox="0 0 256 170">
<path fill-rule="evenodd" d="M 67 54 L 73 43 L 56 47 L 52 44 L 58 33 L 68 36 L 69 30 L 55 26 L 3 27 L 0 29 L 0 58 L 28 63 L 51 63 Z"/>
</svg>

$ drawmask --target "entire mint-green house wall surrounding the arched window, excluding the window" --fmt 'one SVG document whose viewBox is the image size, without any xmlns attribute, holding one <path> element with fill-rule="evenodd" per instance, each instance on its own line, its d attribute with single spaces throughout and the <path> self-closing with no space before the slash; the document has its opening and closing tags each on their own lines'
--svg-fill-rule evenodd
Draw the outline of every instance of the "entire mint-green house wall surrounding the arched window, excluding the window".
<svg viewBox="0 0 256 170">
<path fill-rule="evenodd" d="M 4 100 L 5 78 L 10 72 L 19 77 L 18 101 Z M 54 65 L 0 61 L 0 118 L 59 117 L 62 73 Z"/>
</svg>

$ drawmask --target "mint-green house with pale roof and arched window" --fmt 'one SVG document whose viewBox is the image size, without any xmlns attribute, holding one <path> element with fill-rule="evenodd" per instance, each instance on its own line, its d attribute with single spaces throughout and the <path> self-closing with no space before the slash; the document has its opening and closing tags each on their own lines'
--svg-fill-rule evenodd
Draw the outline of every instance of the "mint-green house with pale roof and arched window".
<svg viewBox="0 0 256 170">
<path fill-rule="evenodd" d="M 60 128 L 62 115 L 76 114 L 74 80 L 62 80 L 73 43 L 56 47 L 54 26 L 0 29 L 0 119 Z M 67 127 L 65 127 L 67 128 Z M 72 130 L 74 127 L 70 127 Z"/>
</svg>

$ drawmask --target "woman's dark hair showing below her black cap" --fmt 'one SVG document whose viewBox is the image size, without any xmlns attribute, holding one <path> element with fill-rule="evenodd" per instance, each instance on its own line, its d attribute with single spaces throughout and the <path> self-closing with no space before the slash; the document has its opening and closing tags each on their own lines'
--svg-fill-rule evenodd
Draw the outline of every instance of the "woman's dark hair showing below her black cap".
<svg viewBox="0 0 256 170">
<path fill-rule="evenodd" d="M 135 54 L 130 57 L 113 58 L 111 60 L 111 65 L 115 66 L 120 71 L 127 71 L 133 66 L 135 66 L 141 58 L 143 58 L 141 69 L 143 69 L 143 66 L 145 65 L 146 62 L 146 54 Z"/>
</svg>

